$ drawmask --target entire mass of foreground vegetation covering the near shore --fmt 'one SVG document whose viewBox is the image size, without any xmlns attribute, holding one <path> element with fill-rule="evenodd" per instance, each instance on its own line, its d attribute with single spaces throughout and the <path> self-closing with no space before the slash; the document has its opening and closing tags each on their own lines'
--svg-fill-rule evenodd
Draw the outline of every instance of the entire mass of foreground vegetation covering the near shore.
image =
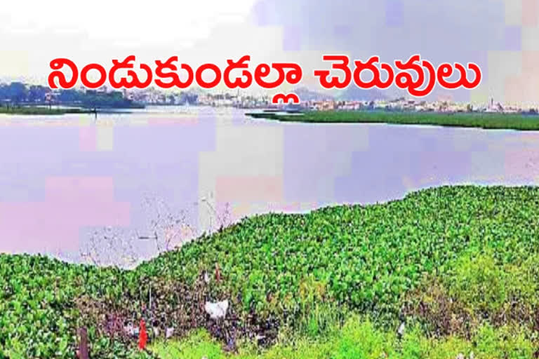
<svg viewBox="0 0 539 359">
<path fill-rule="evenodd" d="M 251 217 L 133 271 L 0 255 L 0 358 L 72 358 L 81 325 L 94 358 L 133 357 L 136 340 L 122 328 L 140 318 L 154 344 L 168 327 L 178 337 L 204 328 L 229 348 L 255 335 L 281 343 L 288 330 L 327 338 L 309 344 L 319 349 L 312 358 L 530 358 L 539 348 L 538 210 L 534 187 L 441 187 Z M 225 298 L 227 318 L 208 319 L 201 304 Z M 350 321 L 357 314 L 361 322 Z M 279 345 L 265 355 L 291 350 Z"/>
</svg>

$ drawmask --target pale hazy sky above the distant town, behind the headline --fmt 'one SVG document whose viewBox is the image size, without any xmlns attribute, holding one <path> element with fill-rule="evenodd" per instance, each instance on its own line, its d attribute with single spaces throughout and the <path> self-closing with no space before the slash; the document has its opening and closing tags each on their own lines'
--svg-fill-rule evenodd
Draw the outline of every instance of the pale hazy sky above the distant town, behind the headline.
<svg viewBox="0 0 539 359">
<path fill-rule="evenodd" d="M 458 101 L 539 103 L 539 0 L 229 0 L 4 1 L 0 7 L 0 79 L 46 83 L 48 64 L 81 66 L 136 55 L 153 63 L 178 55 L 200 65 L 251 55 L 251 63 L 295 61 L 303 83 L 326 68 L 321 56 L 476 62 L 474 90 L 437 88 Z M 81 67 L 80 66 L 80 67 Z M 253 89 L 255 90 L 255 89 Z M 387 91 L 395 94 L 398 91 Z"/>
</svg>

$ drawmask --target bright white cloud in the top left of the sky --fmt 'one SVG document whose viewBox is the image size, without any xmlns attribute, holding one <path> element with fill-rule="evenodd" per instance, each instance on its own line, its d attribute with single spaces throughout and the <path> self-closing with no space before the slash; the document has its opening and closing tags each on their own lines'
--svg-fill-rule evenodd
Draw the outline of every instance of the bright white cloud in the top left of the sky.
<svg viewBox="0 0 539 359">
<path fill-rule="evenodd" d="M 240 22 L 254 0 L 233 1 L 8 1 L 0 6 L 0 34 L 86 34 L 126 44 L 189 46 L 213 27 Z"/>
</svg>

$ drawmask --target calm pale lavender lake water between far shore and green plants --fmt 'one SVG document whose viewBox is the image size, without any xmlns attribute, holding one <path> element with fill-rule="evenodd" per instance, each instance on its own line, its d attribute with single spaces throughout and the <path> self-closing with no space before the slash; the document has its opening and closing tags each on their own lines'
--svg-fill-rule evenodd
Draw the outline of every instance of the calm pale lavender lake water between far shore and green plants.
<svg viewBox="0 0 539 359">
<path fill-rule="evenodd" d="M 537 184 L 539 133 L 279 123 L 208 107 L 0 115 L 0 165 L 0 252 L 131 266 L 258 213 Z"/>
</svg>

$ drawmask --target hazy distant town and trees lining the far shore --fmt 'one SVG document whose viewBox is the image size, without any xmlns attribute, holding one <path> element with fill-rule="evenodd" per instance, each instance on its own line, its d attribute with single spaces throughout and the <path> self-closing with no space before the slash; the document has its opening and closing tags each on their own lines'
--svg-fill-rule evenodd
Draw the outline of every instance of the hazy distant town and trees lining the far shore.
<svg viewBox="0 0 539 359">
<path fill-rule="evenodd" d="M 304 92 L 308 90 L 303 90 Z M 314 94 L 314 95 L 313 95 Z M 111 90 L 106 86 L 97 90 L 86 88 L 70 90 L 51 90 L 47 86 L 27 85 L 21 82 L 0 83 L 0 105 L 2 107 L 82 107 L 86 109 L 114 108 L 133 109 L 152 105 L 192 105 L 211 107 L 236 107 L 241 109 L 284 108 L 310 111 L 436 111 L 436 112 L 493 112 L 508 114 L 538 114 L 535 108 L 504 106 L 493 99 L 482 106 L 451 102 L 408 99 L 399 97 L 394 100 L 338 100 L 333 97 L 309 92 L 299 105 L 273 105 L 267 95 L 245 95 L 232 93 L 203 93 L 196 90 L 179 93 L 165 93 L 155 88 L 143 90 Z M 300 95 L 300 98 L 302 96 Z M 316 98 L 312 98 L 316 97 Z"/>
</svg>

